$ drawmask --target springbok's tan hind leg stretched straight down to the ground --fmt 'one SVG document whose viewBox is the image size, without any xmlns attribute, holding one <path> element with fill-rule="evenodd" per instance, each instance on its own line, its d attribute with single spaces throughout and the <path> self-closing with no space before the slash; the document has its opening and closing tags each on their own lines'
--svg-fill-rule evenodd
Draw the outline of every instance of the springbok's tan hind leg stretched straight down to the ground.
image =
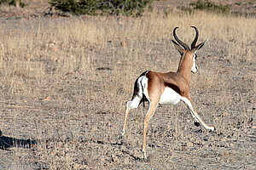
<svg viewBox="0 0 256 170">
<path fill-rule="evenodd" d="M 148 122 L 151 119 L 151 117 L 154 115 L 154 111 L 156 110 L 156 107 L 158 105 L 158 102 L 151 101 L 149 103 L 149 108 L 147 115 L 144 119 L 144 128 L 143 128 L 143 160 L 147 161 L 147 154 L 146 154 L 146 139 L 147 139 L 147 129 L 148 129 Z"/>
</svg>

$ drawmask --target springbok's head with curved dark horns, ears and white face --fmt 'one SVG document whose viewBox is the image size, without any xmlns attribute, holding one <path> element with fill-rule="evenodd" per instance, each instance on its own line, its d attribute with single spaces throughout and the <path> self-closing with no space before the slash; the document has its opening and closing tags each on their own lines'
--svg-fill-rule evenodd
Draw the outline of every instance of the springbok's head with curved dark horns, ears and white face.
<svg viewBox="0 0 256 170">
<path fill-rule="evenodd" d="M 195 44 L 198 40 L 199 33 L 195 26 L 191 26 L 191 27 L 195 29 L 195 39 L 191 43 L 191 48 L 189 48 L 189 46 L 186 43 L 184 43 L 180 39 L 178 39 L 176 32 L 175 32 L 178 27 L 174 28 L 174 30 L 173 30 L 173 37 L 175 38 L 175 40 L 177 42 L 175 42 L 174 40 L 172 40 L 172 42 L 174 43 L 174 47 L 177 49 L 177 51 L 182 55 L 181 60 L 182 59 L 186 60 L 186 64 L 188 66 L 191 66 L 191 71 L 193 73 L 195 73 L 198 69 L 198 66 L 196 65 L 196 59 L 197 59 L 196 52 L 200 48 L 202 48 L 208 40 L 201 42 L 199 45 L 195 46 Z"/>
</svg>

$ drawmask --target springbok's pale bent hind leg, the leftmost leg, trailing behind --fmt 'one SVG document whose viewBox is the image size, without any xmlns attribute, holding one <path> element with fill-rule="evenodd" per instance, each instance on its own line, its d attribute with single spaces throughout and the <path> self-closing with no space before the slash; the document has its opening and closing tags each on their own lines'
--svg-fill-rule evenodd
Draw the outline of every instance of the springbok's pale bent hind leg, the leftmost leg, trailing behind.
<svg viewBox="0 0 256 170">
<path fill-rule="evenodd" d="M 124 127 L 123 127 L 122 131 L 119 133 L 118 139 L 122 139 L 122 137 L 125 134 L 125 129 L 126 129 L 126 125 L 127 125 L 127 117 L 128 117 L 129 111 L 131 111 L 131 109 L 136 109 L 138 107 L 138 105 L 140 104 L 141 99 L 142 99 L 141 97 L 136 96 L 134 99 L 132 99 L 131 101 L 128 101 L 126 103 Z"/>
</svg>

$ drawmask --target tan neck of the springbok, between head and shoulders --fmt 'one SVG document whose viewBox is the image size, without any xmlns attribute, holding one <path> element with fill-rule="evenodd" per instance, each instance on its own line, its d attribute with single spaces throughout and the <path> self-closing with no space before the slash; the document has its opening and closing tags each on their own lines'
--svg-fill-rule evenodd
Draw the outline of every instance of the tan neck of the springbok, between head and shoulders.
<svg viewBox="0 0 256 170">
<path fill-rule="evenodd" d="M 189 58 L 185 57 L 184 55 L 179 61 L 179 65 L 177 68 L 177 73 L 181 74 L 187 82 L 190 81 L 191 77 L 191 65 L 188 65 L 189 63 Z"/>
</svg>

